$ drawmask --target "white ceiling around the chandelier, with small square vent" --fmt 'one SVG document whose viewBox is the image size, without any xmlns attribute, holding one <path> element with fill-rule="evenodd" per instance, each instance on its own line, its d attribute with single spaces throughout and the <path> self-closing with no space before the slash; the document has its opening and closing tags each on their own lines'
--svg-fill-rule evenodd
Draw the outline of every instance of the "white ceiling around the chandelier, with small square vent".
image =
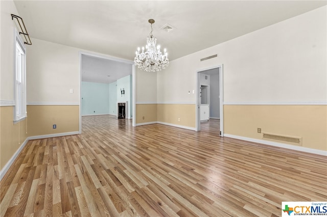
<svg viewBox="0 0 327 217">
<path fill-rule="evenodd" d="M 14 2 L 32 38 L 127 60 L 145 46 L 150 18 L 157 43 L 174 60 L 326 5 L 294 0 Z M 176 29 L 160 29 L 166 23 Z"/>
</svg>

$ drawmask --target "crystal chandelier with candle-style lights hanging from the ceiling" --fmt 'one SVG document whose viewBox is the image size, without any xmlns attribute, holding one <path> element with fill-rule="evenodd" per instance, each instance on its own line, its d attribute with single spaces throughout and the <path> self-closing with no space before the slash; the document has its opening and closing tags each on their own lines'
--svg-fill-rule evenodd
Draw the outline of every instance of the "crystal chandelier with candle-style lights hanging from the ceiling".
<svg viewBox="0 0 327 217">
<path fill-rule="evenodd" d="M 168 54 L 165 48 L 164 54 L 162 55 L 160 45 L 156 46 L 157 39 L 152 35 L 152 23 L 154 23 L 154 19 L 149 19 L 149 23 L 151 23 L 151 32 L 150 36 L 147 37 L 146 50 L 142 47 L 142 52 L 140 52 L 140 48 L 137 48 L 134 63 L 138 68 L 147 72 L 161 71 L 161 69 L 165 69 L 169 64 Z"/>
</svg>

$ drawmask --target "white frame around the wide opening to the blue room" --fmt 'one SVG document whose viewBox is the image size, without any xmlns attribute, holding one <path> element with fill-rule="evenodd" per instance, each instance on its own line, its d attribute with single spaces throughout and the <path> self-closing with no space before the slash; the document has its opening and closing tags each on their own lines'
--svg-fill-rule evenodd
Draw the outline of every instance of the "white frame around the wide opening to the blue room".
<svg viewBox="0 0 327 217">
<path fill-rule="evenodd" d="M 80 61 L 80 126 L 79 126 L 79 133 L 82 133 L 82 112 L 81 112 L 81 107 L 82 107 L 82 55 L 85 56 L 90 56 L 90 57 L 97 57 L 97 58 L 102 58 L 102 59 L 106 59 L 106 60 L 113 60 L 113 61 L 117 61 L 117 62 L 123 62 L 123 63 L 131 63 L 132 65 L 132 126 L 135 126 L 135 65 L 134 65 L 134 61 L 130 61 L 130 60 L 125 60 L 125 59 L 121 59 L 121 58 L 116 58 L 116 57 L 107 57 L 107 56 L 101 56 L 101 55 L 97 55 L 95 53 L 89 53 L 89 52 L 84 52 L 84 51 L 80 51 L 79 52 L 79 61 Z M 109 90 L 108 90 L 109 91 Z"/>
</svg>

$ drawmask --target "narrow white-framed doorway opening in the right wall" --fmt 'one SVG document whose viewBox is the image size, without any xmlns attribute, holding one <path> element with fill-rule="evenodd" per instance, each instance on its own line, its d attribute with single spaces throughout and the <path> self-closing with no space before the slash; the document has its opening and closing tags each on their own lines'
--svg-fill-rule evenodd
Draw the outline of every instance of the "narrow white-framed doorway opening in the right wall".
<svg viewBox="0 0 327 217">
<path fill-rule="evenodd" d="M 196 72 L 196 130 L 201 123 L 219 124 L 217 133 L 223 136 L 223 67 L 222 65 Z"/>
</svg>

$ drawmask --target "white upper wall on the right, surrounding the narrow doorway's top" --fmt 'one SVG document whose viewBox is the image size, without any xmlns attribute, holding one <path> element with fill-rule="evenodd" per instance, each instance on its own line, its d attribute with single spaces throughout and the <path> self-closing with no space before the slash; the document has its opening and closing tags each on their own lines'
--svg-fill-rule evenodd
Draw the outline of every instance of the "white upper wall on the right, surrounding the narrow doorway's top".
<svg viewBox="0 0 327 217">
<path fill-rule="evenodd" d="M 223 64 L 224 103 L 326 103 L 326 26 L 324 6 L 171 61 L 157 100 L 195 103 L 196 71 Z"/>
</svg>

